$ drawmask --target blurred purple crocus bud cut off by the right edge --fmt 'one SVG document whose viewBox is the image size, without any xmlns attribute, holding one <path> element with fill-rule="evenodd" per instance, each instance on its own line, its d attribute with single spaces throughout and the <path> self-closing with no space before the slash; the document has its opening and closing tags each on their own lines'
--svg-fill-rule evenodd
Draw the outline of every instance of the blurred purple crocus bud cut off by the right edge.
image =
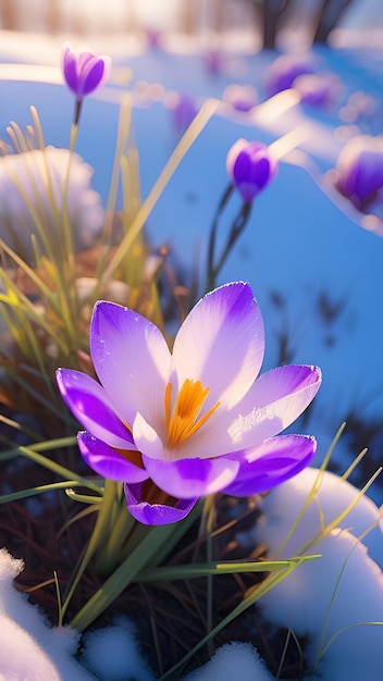
<svg viewBox="0 0 383 681">
<path fill-rule="evenodd" d="M 353 137 L 336 161 L 334 184 L 360 211 L 383 199 L 383 137 Z"/>
</svg>

